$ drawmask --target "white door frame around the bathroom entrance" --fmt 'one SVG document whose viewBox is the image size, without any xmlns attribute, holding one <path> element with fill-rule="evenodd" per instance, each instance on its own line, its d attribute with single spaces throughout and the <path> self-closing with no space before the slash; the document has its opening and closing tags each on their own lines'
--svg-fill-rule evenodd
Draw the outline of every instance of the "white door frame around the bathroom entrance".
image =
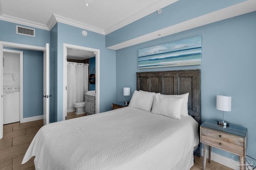
<svg viewBox="0 0 256 170">
<path fill-rule="evenodd" d="M 66 120 L 67 117 L 67 61 L 68 57 L 70 56 L 69 53 L 72 53 L 71 51 L 75 51 L 76 53 L 82 53 L 80 57 L 77 59 L 84 60 L 86 58 L 91 58 L 95 56 L 95 89 L 96 90 L 96 96 L 95 96 L 95 113 L 99 113 L 100 109 L 100 50 L 99 49 L 92 49 L 88 47 L 82 47 L 77 45 L 70 45 L 70 44 L 63 44 L 63 120 Z M 78 52 L 79 51 L 79 52 Z M 74 58 L 75 59 L 75 58 Z M 90 67 L 90 65 L 89 65 Z M 92 69 L 90 69 L 92 70 Z M 89 70 L 89 72 L 90 72 Z M 89 86 L 88 86 L 89 87 Z M 90 87 L 88 88 L 90 90 Z"/>
</svg>

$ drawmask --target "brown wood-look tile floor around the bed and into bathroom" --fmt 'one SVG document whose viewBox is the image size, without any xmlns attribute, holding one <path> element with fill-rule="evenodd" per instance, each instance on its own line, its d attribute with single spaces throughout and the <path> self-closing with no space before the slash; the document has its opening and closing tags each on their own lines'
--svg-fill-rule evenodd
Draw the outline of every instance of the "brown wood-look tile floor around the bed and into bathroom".
<svg viewBox="0 0 256 170">
<path fill-rule="evenodd" d="M 68 113 L 68 119 L 85 116 Z M 42 127 L 43 121 L 31 121 L 27 123 L 11 123 L 4 125 L 4 137 L 0 139 L 0 170 L 34 170 L 34 157 L 25 164 L 22 159 L 36 132 Z M 202 170 L 203 157 L 195 157 L 194 166 L 190 170 Z M 232 170 L 222 164 L 211 161 L 206 164 L 206 170 Z"/>
</svg>

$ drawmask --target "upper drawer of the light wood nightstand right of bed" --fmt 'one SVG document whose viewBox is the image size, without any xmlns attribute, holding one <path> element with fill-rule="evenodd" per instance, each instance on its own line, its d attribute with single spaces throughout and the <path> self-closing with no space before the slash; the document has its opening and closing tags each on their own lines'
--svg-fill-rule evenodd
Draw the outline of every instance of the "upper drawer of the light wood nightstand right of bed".
<svg viewBox="0 0 256 170">
<path fill-rule="evenodd" d="M 212 129 L 207 129 L 207 128 L 202 128 L 201 133 L 204 136 L 219 139 L 221 141 L 226 141 L 228 143 L 233 143 L 235 145 L 240 145 L 242 147 L 244 146 L 244 138 L 242 138 L 242 137 L 230 135 L 230 134 L 223 133 L 220 131 L 214 131 Z"/>
</svg>

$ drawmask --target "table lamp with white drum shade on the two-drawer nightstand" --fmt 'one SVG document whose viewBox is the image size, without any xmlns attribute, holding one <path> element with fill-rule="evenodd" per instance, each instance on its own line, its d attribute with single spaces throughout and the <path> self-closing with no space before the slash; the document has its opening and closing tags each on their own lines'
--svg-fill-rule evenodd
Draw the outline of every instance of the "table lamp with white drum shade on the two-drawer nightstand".
<svg viewBox="0 0 256 170">
<path fill-rule="evenodd" d="M 228 121 L 224 121 L 224 111 L 231 111 L 231 96 L 217 95 L 216 98 L 216 109 L 222 111 L 222 121 L 218 121 L 219 125 L 229 126 Z"/>
</svg>

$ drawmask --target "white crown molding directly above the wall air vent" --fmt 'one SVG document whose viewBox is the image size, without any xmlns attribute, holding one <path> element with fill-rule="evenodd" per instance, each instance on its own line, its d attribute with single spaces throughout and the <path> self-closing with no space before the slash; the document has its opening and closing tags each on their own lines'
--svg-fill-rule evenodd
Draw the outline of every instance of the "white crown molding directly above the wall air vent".
<svg viewBox="0 0 256 170">
<path fill-rule="evenodd" d="M 48 27 L 45 24 L 34 22 L 34 21 L 29 21 L 29 20 L 24 20 L 24 19 L 21 19 L 21 18 L 13 17 L 13 16 L 8 16 L 8 15 L 5 15 L 5 14 L 2 14 L 0 16 L 0 20 L 13 22 L 13 23 L 18 23 L 18 24 L 21 24 L 21 25 L 26 25 L 26 26 L 30 26 L 30 27 L 39 28 L 39 29 L 45 29 L 45 30 L 49 31 Z"/>
</svg>

